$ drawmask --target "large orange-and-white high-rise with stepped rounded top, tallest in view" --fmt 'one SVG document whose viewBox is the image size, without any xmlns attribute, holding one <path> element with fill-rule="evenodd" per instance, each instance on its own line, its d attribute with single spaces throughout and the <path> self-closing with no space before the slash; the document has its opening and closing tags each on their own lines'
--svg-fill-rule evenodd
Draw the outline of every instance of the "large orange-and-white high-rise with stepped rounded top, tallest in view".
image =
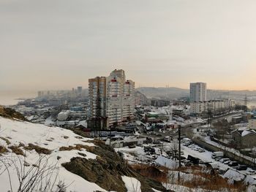
<svg viewBox="0 0 256 192">
<path fill-rule="evenodd" d="M 108 128 L 133 118 L 135 82 L 126 80 L 124 70 L 108 77 L 89 79 L 90 126 Z"/>
</svg>

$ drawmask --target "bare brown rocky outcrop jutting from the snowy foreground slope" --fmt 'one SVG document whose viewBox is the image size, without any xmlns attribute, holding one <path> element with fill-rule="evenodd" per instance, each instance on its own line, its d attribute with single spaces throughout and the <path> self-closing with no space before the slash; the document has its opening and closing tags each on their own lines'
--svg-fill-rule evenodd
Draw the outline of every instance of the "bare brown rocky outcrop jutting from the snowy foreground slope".
<svg viewBox="0 0 256 192">
<path fill-rule="evenodd" d="M 152 188 L 159 191 L 167 191 L 162 183 L 144 177 L 132 169 L 127 161 L 124 161 L 112 147 L 105 145 L 100 140 L 93 140 L 97 147 L 90 147 L 87 150 L 97 155 L 97 159 L 72 158 L 69 163 L 62 164 L 69 172 L 78 174 L 85 180 L 96 183 L 107 191 L 126 192 L 121 176 L 135 177 L 140 180 L 141 191 L 153 192 Z"/>
</svg>

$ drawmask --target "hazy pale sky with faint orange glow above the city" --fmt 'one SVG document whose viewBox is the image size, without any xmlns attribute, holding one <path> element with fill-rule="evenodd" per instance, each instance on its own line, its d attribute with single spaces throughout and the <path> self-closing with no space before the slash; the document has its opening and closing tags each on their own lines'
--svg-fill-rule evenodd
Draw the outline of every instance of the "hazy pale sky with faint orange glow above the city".
<svg viewBox="0 0 256 192">
<path fill-rule="evenodd" d="M 256 1 L 0 0 L 0 91 L 137 86 L 256 89 Z"/>
</svg>

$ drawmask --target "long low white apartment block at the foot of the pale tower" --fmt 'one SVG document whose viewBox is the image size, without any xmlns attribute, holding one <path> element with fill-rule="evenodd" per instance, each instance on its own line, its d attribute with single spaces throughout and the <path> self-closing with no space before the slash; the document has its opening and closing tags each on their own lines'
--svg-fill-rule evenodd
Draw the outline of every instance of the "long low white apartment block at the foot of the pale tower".
<svg viewBox="0 0 256 192">
<path fill-rule="evenodd" d="M 200 115 L 203 112 L 216 113 L 222 110 L 229 110 L 235 107 L 235 101 L 231 99 L 226 100 L 210 100 L 210 101 L 197 101 L 190 103 L 190 113 Z"/>
</svg>

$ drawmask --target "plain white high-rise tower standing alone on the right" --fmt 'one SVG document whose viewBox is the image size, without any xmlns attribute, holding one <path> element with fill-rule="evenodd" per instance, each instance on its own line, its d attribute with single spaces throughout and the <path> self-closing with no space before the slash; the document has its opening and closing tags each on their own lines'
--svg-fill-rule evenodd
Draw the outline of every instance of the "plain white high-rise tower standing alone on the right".
<svg viewBox="0 0 256 192">
<path fill-rule="evenodd" d="M 190 83 L 190 102 L 206 101 L 206 82 Z"/>
</svg>

